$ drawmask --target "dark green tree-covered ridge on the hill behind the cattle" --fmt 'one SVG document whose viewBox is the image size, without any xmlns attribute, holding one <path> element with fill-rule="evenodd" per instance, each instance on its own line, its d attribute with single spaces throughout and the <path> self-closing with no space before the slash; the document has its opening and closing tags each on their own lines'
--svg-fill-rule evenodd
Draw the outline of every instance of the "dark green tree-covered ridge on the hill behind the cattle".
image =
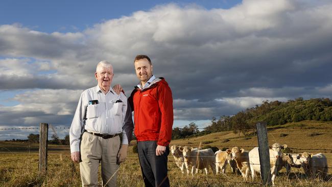
<svg viewBox="0 0 332 187">
<path fill-rule="evenodd" d="M 188 138 L 221 131 L 233 131 L 239 136 L 245 136 L 252 132 L 257 122 L 274 126 L 303 120 L 332 121 L 332 101 L 329 98 L 297 98 L 287 102 L 266 100 L 261 105 L 239 111 L 235 115 L 223 115 L 219 119 L 213 117 L 211 124 L 203 131 L 199 131 L 195 123 L 175 128 L 172 138 Z"/>
</svg>

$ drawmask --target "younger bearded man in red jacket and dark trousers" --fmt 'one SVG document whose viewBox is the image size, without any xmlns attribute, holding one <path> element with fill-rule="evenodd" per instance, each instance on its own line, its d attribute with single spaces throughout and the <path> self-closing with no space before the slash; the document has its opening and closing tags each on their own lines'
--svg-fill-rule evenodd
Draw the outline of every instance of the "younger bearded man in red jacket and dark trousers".
<svg viewBox="0 0 332 187">
<path fill-rule="evenodd" d="M 137 55 L 135 72 L 140 83 L 129 98 L 134 111 L 135 136 L 145 186 L 170 186 L 167 156 L 172 138 L 172 91 L 163 78 L 152 74 L 148 56 Z"/>
</svg>

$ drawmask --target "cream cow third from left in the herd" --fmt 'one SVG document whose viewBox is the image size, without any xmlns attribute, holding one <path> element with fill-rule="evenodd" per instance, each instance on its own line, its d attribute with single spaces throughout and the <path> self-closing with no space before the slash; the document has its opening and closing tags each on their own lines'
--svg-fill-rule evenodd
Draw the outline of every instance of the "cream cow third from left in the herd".
<svg viewBox="0 0 332 187">
<path fill-rule="evenodd" d="M 236 162 L 232 159 L 232 151 L 227 149 L 226 151 L 217 151 L 215 152 L 216 155 L 216 174 L 219 173 L 221 169 L 221 173 L 225 174 L 227 163 L 229 164 L 233 173 L 237 171 Z"/>
</svg>

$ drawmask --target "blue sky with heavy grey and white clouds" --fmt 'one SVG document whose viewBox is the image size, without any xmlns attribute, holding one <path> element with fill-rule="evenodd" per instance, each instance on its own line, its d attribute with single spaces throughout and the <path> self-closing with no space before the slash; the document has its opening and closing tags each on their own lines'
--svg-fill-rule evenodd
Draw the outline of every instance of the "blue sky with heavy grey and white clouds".
<svg viewBox="0 0 332 187">
<path fill-rule="evenodd" d="M 264 100 L 331 98 L 331 1 L 176 2 L 2 1 L 0 128 L 69 127 L 101 60 L 130 95 L 137 54 L 169 82 L 174 126 Z M 0 140 L 29 133 L 0 130 Z"/>
</svg>

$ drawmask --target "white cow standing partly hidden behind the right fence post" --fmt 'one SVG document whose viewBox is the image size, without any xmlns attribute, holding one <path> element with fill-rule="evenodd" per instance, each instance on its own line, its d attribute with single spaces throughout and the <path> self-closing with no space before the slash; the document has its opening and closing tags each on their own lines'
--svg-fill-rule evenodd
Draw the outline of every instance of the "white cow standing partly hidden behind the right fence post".
<svg viewBox="0 0 332 187">
<path fill-rule="evenodd" d="M 281 146 L 278 143 L 275 143 L 272 145 L 272 147 L 269 149 L 270 153 L 270 165 L 271 165 L 271 180 L 272 184 L 274 185 L 275 177 L 278 173 L 277 166 L 282 165 L 282 159 L 281 159 L 281 149 L 287 148 L 287 145 Z M 258 153 L 258 147 L 253 148 L 251 151 L 249 151 L 249 161 L 250 161 L 250 169 L 251 169 L 251 176 L 252 179 L 255 178 L 256 173 L 260 173 L 260 162 L 259 162 L 259 153 Z"/>
</svg>

